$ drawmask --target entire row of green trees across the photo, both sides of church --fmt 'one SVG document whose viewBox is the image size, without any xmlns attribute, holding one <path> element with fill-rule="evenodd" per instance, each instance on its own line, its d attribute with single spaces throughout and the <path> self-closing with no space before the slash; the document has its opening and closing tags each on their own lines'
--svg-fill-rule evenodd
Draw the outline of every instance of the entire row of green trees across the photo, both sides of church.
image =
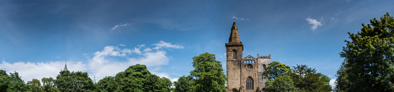
<svg viewBox="0 0 394 92">
<path fill-rule="evenodd" d="M 351 40 L 340 56 L 344 61 L 331 78 L 307 65 L 286 66 L 274 61 L 262 73 L 268 92 L 394 92 L 394 18 L 386 13 L 380 20 L 362 24 L 361 31 L 350 33 Z M 18 72 L 0 70 L 0 92 L 226 92 L 227 80 L 214 54 L 202 53 L 193 59 L 195 70 L 171 82 L 151 74 L 145 65 L 130 66 L 115 76 L 93 83 L 86 72 L 59 72 L 52 77 L 32 79 L 26 84 Z M 41 85 L 42 83 L 42 85 Z"/>
</svg>

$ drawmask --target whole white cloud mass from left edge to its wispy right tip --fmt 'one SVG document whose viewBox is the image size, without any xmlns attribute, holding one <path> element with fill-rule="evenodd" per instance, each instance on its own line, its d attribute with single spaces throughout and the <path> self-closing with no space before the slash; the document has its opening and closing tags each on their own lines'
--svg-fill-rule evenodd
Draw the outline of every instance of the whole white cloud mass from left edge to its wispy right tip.
<svg viewBox="0 0 394 92">
<path fill-rule="evenodd" d="M 171 45 L 164 41 L 160 41 L 154 46 L 167 47 L 167 48 L 183 48 L 180 45 Z M 144 52 L 139 51 L 145 49 Z M 93 57 L 87 60 L 87 63 L 67 61 L 68 70 L 88 72 L 89 77 L 93 79 L 96 77 L 96 81 L 104 78 L 105 76 L 115 76 L 121 71 L 125 71 L 129 66 L 135 64 L 144 64 L 152 74 L 156 74 L 160 77 L 169 77 L 169 74 L 165 72 L 157 72 L 160 70 L 160 66 L 167 65 L 170 57 L 168 57 L 162 49 L 158 50 L 147 50 L 145 45 L 138 45 L 138 48 L 130 50 L 128 48 L 121 49 L 117 46 L 106 46 L 101 51 L 93 53 Z M 139 51 L 139 52 L 138 52 Z M 132 53 L 139 53 L 135 56 L 131 56 Z M 84 55 L 87 55 L 85 53 Z M 31 81 L 33 78 L 41 80 L 43 77 L 53 77 L 59 74 L 60 69 L 63 69 L 65 65 L 64 61 L 49 61 L 41 63 L 7 63 L 6 61 L 1 62 L 0 69 L 6 70 L 7 73 L 16 71 L 19 73 L 22 80 L 25 82 Z M 45 72 L 43 72 L 45 71 Z"/>
</svg>

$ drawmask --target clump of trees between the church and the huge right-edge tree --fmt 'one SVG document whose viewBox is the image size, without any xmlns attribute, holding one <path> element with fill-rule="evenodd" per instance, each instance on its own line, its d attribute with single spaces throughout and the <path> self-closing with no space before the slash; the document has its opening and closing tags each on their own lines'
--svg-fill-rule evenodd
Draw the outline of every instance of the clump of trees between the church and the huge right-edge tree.
<svg viewBox="0 0 394 92">
<path fill-rule="evenodd" d="M 290 66 L 277 61 L 268 64 L 266 71 L 262 73 L 266 81 L 268 92 L 331 92 L 329 82 L 331 78 L 317 73 L 316 69 L 308 68 L 307 65 Z M 280 78 L 279 78 L 280 77 Z M 284 92 L 286 92 L 284 91 Z"/>
</svg>

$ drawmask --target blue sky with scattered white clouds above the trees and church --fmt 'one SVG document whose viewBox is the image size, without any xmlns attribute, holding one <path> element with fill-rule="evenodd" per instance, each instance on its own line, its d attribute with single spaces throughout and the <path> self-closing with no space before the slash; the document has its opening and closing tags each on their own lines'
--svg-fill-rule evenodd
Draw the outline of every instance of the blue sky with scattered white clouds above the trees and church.
<svg viewBox="0 0 394 92">
<path fill-rule="evenodd" d="M 347 32 L 359 31 L 393 0 L 0 1 L 0 69 L 27 82 L 64 68 L 93 79 L 134 64 L 171 80 L 189 75 L 191 58 L 216 54 L 225 68 L 233 17 L 243 57 L 306 64 L 335 79 Z M 333 83 L 333 82 L 331 82 Z"/>
</svg>

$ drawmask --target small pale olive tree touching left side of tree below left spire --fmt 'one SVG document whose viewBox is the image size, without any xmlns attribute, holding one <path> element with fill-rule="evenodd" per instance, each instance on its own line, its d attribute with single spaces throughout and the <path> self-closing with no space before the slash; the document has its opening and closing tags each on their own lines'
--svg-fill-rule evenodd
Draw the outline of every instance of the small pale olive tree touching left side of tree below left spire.
<svg viewBox="0 0 394 92">
<path fill-rule="evenodd" d="M 41 79 L 41 82 L 43 83 L 43 92 L 60 92 L 56 86 L 54 85 L 54 79 L 52 77 Z"/>
</svg>

